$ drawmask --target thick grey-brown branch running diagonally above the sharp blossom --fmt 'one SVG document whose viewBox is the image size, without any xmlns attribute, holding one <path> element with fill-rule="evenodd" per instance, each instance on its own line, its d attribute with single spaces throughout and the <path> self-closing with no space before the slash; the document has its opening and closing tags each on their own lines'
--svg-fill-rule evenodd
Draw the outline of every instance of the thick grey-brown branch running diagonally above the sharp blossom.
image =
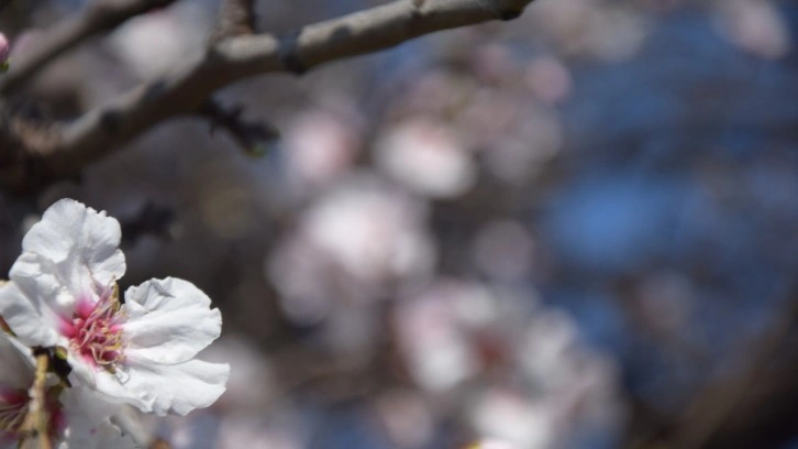
<svg viewBox="0 0 798 449">
<path fill-rule="evenodd" d="M 15 164 L 9 168 L 16 169 L 15 176 L 0 178 L 0 185 L 33 189 L 74 176 L 151 127 L 176 116 L 196 114 L 213 91 L 240 79 L 266 73 L 301 74 L 326 62 L 389 48 L 436 31 L 514 19 L 531 1 L 398 0 L 284 36 L 225 39 L 169 76 L 140 86 L 70 123 L 44 128 L 44 139 L 36 131 L 43 127 L 24 122 L 14 127 L 0 116 L 0 161 L 13 160 Z M 3 131 L 11 135 L 2 135 Z M 25 173 L 31 164 L 41 173 Z"/>
</svg>

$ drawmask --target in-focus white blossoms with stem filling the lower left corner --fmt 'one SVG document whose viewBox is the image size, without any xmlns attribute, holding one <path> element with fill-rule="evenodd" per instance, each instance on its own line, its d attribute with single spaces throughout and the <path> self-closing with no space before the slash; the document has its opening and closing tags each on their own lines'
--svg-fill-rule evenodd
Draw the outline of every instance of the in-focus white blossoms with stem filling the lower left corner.
<svg viewBox="0 0 798 449">
<path fill-rule="evenodd" d="M 122 296 L 120 240 L 115 219 L 71 199 L 25 234 L 0 284 L 0 449 L 34 436 L 60 449 L 144 447 L 123 418 L 131 408 L 186 415 L 224 392 L 230 366 L 196 359 L 220 336 L 220 311 L 173 277 Z"/>
</svg>

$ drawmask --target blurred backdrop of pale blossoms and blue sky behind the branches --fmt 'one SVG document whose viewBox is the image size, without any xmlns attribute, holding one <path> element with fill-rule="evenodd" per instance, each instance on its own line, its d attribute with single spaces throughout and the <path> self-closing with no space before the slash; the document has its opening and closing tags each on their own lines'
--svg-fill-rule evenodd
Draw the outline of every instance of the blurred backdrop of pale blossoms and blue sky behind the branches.
<svg viewBox="0 0 798 449">
<path fill-rule="evenodd" d="M 85 1 L 14 1 L 13 51 Z M 259 1 L 287 32 L 381 3 Z M 202 52 L 180 0 L 59 58 L 68 119 Z M 217 98 L 80 179 L 0 191 L 0 272 L 62 197 L 123 223 L 123 287 L 222 309 L 228 393 L 174 448 L 798 448 L 798 7 L 536 0 L 518 20 Z M 19 54 L 19 53 L 16 53 Z M 13 64 L 13 55 L 12 55 Z"/>
</svg>

